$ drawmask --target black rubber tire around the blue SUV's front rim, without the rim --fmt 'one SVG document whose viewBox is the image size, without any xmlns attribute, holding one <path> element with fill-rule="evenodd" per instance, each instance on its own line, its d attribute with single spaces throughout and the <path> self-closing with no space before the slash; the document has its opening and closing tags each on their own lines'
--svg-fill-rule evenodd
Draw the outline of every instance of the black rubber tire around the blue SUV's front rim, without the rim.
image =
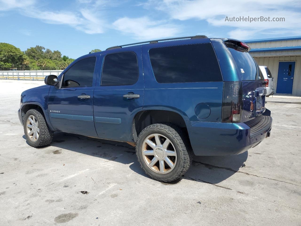
<svg viewBox="0 0 301 226">
<path fill-rule="evenodd" d="M 39 138 L 35 142 L 30 140 L 27 134 L 26 122 L 30 115 L 33 115 L 39 123 L 39 129 L 40 129 Z M 37 148 L 37 147 L 47 146 L 51 143 L 53 137 L 53 131 L 49 129 L 48 124 L 45 121 L 44 115 L 42 114 L 41 111 L 37 109 L 29 109 L 25 114 L 23 124 L 24 124 L 23 128 L 24 128 L 25 137 L 30 146 Z"/>
</svg>

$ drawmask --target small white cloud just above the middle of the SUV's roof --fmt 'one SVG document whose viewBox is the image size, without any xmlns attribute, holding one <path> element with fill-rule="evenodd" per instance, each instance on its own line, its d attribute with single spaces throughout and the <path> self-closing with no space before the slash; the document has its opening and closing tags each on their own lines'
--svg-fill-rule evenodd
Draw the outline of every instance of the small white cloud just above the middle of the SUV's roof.
<svg viewBox="0 0 301 226">
<path fill-rule="evenodd" d="M 164 21 L 155 21 L 148 17 L 123 17 L 113 23 L 116 30 L 135 35 L 136 39 L 159 39 L 175 36 L 179 27 Z"/>
</svg>

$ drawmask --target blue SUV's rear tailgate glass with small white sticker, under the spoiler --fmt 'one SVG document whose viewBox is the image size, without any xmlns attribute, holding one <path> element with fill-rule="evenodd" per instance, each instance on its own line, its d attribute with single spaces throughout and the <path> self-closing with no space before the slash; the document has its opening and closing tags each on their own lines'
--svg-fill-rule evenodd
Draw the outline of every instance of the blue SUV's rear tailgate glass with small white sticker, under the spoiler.
<svg viewBox="0 0 301 226">
<path fill-rule="evenodd" d="M 228 48 L 234 58 L 239 70 L 240 80 L 262 80 L 263 76 L 257 63 L 248 52 L 240 52 L 238 50 Z"/>
</svg>

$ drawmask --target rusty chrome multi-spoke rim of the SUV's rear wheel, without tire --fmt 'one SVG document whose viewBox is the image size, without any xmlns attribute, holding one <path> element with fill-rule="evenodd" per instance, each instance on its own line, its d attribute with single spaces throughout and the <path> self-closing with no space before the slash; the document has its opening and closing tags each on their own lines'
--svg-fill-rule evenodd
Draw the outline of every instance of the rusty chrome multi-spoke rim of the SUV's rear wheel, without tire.
<svg viewBox="0 0 301 226">
<path fill-rule="evenodd" d="M 177 153 L 171 141 L 158 133 L 149 135 L 142 145 L 146 165 L 158 174 L 166 174 L 175 168 Z"/>
</svg>

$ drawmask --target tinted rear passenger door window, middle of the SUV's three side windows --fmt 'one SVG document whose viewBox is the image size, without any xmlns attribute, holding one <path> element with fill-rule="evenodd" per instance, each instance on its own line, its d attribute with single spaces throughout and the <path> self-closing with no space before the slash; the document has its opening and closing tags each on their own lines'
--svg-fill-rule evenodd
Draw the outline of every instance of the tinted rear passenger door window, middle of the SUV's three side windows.
<svg viewBox="0 0 301 226">
<path fill-rule="evenodd" d="M 133 85 L 138 81 L 138 62 L 134 52 L 106 55 L 101 74 L 102 86 Z"/>
</svg>

